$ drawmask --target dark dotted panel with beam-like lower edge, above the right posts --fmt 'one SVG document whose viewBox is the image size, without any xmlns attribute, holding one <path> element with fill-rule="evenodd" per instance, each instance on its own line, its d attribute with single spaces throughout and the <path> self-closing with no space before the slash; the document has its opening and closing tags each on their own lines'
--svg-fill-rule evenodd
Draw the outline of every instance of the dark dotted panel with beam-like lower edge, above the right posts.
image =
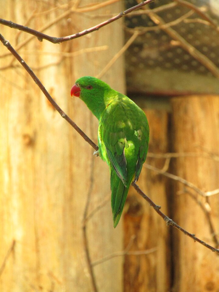
<svg viewBox="0 0 219 292">
<path fill-rule="evenodd" d="M 126 39 L 140 32 L 126 52 L 128 91 L 219 93 L 219 0 L 180 2 L 156 0 L 144 7 L 152 17 L 142 10 L 126 17 Z M 127 8 L 136 4 L 126 1 Z M 168 25 L 158 29 L 156 19 Z"/>
</svg>

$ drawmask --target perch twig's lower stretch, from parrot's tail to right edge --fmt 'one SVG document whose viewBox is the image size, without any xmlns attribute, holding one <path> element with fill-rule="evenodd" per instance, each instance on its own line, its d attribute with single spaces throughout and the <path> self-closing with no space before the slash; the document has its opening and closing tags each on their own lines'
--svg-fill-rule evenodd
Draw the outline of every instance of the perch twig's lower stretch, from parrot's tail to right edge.
<svg viewBox="0 0 219 292">
<path fill-rule="evenodd" d="M 205 247 L 210 249 L 212 252 L 217 252 L 219 254 L 219 249 L 215 249 L 213 246 L 211 246 L 211 245 L 207 244 L 206 242 L 204 242 L 203 240 L 197 238 L 194 234 L 189 233 L 188 231 L 186 231 L 185 229 L 180 227 L 178 224 L 176 224 L 176 222 L 174 222 L 172 219 L 170 219 L 165 214 L 163 214 L 160 211 L 161 207 L 156 205 L 148 196 L 146 196 L 135 182 L 132 182 L 132 186 L 155 209 L 155 211 L 163 218 L 163 220 L 166 222 L 167 226 L 171 225 L 171 226 L 175 227 L 176 229 L 179 229 L 185 235 L 193 238 L 194 241 L 197 241 L 200 244 L 204 245 Z"/>
</svg>

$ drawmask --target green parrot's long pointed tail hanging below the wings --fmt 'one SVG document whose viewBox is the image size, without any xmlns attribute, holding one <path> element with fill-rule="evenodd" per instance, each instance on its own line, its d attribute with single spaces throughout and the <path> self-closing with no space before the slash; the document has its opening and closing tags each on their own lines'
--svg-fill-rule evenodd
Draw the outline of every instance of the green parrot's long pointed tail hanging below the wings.
<svg viewBox="0 0 219 292">
<path fill-rule="evenodd" d="M 130 183 L 128 183 L 127 186 L 124 186 L 122 180 L 117 176 L 116 172 L 112 170 L 110 186 L 112 191 L 111 207 L 113 211 L 113 226 L 116 228 L 122 215 Z"/>
</svg>

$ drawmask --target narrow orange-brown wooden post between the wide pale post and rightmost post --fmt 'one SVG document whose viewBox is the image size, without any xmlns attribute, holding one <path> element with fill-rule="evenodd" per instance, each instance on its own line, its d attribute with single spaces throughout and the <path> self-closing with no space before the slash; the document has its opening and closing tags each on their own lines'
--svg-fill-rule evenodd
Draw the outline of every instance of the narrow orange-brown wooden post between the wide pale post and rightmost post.
<svg viewBox="0 0 219 292">
<path fill-rule="evenodd" d="M 136 101 L 138 103 L 138 101 Z M 150 126 L 149 152 L 168 151 L 168 113 L 165 110 L 147 109 L 147 101 L 139 104 L 148 117 Z M 146 163 L 162 169 L 165 159 L 147 158 Z M 137 184 L 168 214 L 165 177 L 143 166 Z M 124 247 L 135 235 L 130 251 L 152 250 L 149 254 L 126 255 L 124 263 L 124 291 L 165 292 L 170 287 L 169 228 L 156 212 L 130 189 L 124 217 Z"/>
</svg>

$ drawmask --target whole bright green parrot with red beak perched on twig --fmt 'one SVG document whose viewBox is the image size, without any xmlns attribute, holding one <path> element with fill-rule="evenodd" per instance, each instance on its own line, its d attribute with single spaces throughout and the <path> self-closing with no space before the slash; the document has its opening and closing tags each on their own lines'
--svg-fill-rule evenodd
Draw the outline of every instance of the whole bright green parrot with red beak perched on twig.
<svg viewBox="0 0 219 292">
<path fill-rule="evenodd" d="M 82 99 L 99 120 L 99 156 L 109 165 L 113 225 L 119 223 L 130 184 L 146 159 L 148 120 L 131 99 L 91 76 L 76 80 L 71 96 Z"/>
</svg>

